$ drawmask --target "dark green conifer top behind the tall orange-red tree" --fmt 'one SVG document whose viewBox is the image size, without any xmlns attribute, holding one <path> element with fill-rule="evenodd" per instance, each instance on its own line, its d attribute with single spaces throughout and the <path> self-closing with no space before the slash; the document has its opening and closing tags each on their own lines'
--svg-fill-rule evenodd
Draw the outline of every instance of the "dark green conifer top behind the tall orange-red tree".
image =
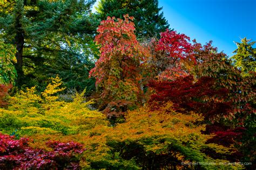
<svg viewBox="0 0 256 170">
<path fill-rule="evenodd" d="M 169 28 L 163 12 L 160 12 L 162 8 L 158 7 L 158 0 L 101 0 L 96 9 L 102 20 L 107 16 L 133 16 L 138 38 L 159 36 Z"/>
</svg>

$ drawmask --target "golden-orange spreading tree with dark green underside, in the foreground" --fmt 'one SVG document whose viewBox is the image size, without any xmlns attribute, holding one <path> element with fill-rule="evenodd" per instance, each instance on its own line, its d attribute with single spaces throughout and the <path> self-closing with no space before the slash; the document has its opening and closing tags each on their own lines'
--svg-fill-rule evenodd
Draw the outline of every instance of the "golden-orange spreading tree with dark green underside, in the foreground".
<svg viewBox="0 0 256 170">
<path fill-rule="evenodd" d="M 206 144 L 211 136 L 201 134 L 204 125 L 196 124 L 202 118 L 194 112 L 183 115 L 173 111 L 172 103 L 162 105 L 157 111 L 147 107 L 131 111 L 125 123 L 92 129 L 85 138 L 86 161 L 82 165 L 96 169 L 205 169 L 208 165 L 182 165 L 181 162 L 225 162 L 229 148 Z M 219 157 L 206 154 L 209 151 Z"/>
</svg>

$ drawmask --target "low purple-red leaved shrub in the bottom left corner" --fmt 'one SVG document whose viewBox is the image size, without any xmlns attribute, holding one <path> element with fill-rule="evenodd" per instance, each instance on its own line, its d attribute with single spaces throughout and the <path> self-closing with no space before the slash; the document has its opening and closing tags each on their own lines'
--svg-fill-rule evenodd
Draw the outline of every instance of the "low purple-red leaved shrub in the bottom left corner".
<svg viewBox="0 0 256 170">
<path fill-rule="evenodd" d="M 0 169 L 10 168 L 79 168 L 77 155 L 85 150 L 73 141 L 60 143 L 49 141 L 47 146 L 53 151 L 31 148 L 28 138 L 15 140 L 14 137 L 0 133 Z"/>
</svg>

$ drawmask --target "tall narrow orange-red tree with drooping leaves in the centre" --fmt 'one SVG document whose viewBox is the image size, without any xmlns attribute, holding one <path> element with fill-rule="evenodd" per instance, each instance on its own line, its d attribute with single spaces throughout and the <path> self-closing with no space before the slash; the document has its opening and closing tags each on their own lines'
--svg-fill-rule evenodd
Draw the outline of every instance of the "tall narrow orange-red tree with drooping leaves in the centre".
<svg viewBox="0 0 256 170">
<path fill-rule="evenodd" d="M 134 34 L 133 17 L 124 20 L 107 17 L 97 29 L 95 42 L 100 45 L 100 58 L 90 72 L 106 105 L 117 101 L 138 101 L 142 93 L 140 75 L 142 61 L 147 55 Z"/>
</svg>

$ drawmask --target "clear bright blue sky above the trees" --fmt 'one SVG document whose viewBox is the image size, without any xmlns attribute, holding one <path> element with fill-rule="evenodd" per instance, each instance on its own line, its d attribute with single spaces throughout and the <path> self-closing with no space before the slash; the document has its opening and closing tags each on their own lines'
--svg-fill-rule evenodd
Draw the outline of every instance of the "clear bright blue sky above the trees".
<svg viewBox="0 0 256 170">
<path fill-rule="evenodd" d="M 97 2 L 96 4 L 97 5 Z M 233 41 L 256 41 L 256 0 L 159 0 L 170 27 L 232 56 Z"/>
</svg>

